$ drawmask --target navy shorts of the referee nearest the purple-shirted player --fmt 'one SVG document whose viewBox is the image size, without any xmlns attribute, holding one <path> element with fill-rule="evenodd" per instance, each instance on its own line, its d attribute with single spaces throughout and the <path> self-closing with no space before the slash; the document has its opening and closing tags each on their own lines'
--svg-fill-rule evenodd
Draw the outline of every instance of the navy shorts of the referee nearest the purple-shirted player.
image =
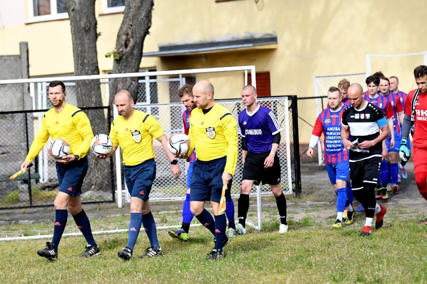
<svg viewBox="0 0 427 284">
<path fill-rule="evenodd" d="M 210 200 L 220 202 L 226 161 L 227 157 L 211 161 L 200 161 L 199 159 L 194 161 L 193 172 L 191 174 L 190 201 Z M 228 190 L 226 190 L 226 199 L 228 199 L 227 195 L 231 199 L 231 185 L 232 180 L 229 181 Z"/>
</svg>

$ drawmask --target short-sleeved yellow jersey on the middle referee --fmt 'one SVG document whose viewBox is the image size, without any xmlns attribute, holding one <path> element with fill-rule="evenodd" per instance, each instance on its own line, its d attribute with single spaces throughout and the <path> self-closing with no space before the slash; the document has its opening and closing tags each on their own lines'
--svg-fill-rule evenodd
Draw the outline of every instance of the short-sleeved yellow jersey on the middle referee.
<svg viewBox="0 0 427 284">
<path fill-rule="evenodd" d="M 129 120 L 119 115 L 111 123 L 113 146 L 120 145 L 125 165 L 140 164 L 154 158 L 153 137 L 164 135 L 159 122 L 150 114 L 134 110 Z"/>
</svg>

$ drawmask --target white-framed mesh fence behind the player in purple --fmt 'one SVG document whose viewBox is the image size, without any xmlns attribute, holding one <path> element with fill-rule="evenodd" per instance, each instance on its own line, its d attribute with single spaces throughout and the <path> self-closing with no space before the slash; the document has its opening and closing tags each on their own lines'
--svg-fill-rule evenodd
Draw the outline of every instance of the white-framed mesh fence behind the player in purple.
<svg viewBox="0 0 427 284">
<path fill-rule="evenodd" d="M 238 114 L 244 110 L 245 106 L 241 99 L 230 99 L 230 100 L 217 100 L 217 102 L 228 110 L 233 117 L 238 120 Z M 290 132 L 292 127 L 289 120 L 289 102 L 287 97 L 269 97 L 258 99 L 258 102 L 272 109 L 278 120 L 281 122 L 283 127 L 282 139 L 280 142 L 278 156 L 280 158 L 282 167 L 282 190 L 285 194 L 292 194 L 292 175 L 291 175 L 291 148 L 290 148 Z M 156 117 L 159 121 L 166 136 L 170 136 L 176 132 L 183 132 L 182 124 L 182 112 L 185 107 L 182 103 L 167 103 L 167 104 L 151 104 L 151 109 L 158 108 L 159 117 Z M 146 111 L 146 106 L 135 105 L 135 109 Z M 237 131 L 237 129 L 236 129 Z M 239 137 L 241 139 L 241 137 Z M 170 171 L 170 163 L 163 151 L 163 148 L 159 141 L 154 139 L 154 152 L 156 155 L 157 163 L 157 174 L 156 179 L 153 183 L 153 187 L 150 193 L 150 200 L 183 200 L 185 198 L 186 190 L 186 174 L 181 174 L 179 178 L 173 179 Z M 240 145 L 240 141 L 239 141 Z M 185 168 L 185 160 L 180 159 L 179 165 L 181 169 Z M 232 196 L 240 195 L 240 186 L 242 180 L 242 151 L 239 146 L 238 150 L 238 161 L 236 172 L 233 176 L 232 184 Z M 254 190 L 251 194 L 255 195 Z M 272 194 L 269 185 L 261 186 L 261 194 Z M 129 196 L 128 196 L 129 197 Z"/>
</svg>

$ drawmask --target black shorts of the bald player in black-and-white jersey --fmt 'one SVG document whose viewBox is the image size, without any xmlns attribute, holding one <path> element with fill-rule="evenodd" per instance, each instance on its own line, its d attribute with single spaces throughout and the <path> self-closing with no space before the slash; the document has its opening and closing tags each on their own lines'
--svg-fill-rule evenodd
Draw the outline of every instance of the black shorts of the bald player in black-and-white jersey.
<svg viewBox="0 0 427 284">
<path fill-rule="evenodd" d="M 372 156 L 358 161 L 350 160 L 350 182 L 352 190 L 362 189 L 364 182 L 376 185 L 378 173 L 381 168 L 381 159 L 381 156 Z"/>
</svg>

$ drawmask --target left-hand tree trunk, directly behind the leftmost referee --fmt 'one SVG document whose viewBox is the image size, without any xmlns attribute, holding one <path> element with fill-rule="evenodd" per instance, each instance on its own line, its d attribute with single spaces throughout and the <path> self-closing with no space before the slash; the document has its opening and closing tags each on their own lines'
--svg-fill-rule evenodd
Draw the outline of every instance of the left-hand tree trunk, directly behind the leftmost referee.
<svg viewBox="0 0 427 284">
<path fill-rule="evenodd" d="M 97 20 L 95 0 L 66 0 L 65 8 L 70 17 L 71 36 L 74 53 L 74 73 L 80 75 L 98 75 L 98 57 L 96 50 Z M 77 80 L 76 95 L 78 107 L 102 106 L 101 86 L 98 79 Z M 91 121 L 94 135 L 107 133 L 109 126 L 103 109 L 85 110 Z M 99 161 L 88 153 L 89 169 L 85 178 L 87 187 L 92 190 L 110 191 L 109 161 Z"/>
</svg>

